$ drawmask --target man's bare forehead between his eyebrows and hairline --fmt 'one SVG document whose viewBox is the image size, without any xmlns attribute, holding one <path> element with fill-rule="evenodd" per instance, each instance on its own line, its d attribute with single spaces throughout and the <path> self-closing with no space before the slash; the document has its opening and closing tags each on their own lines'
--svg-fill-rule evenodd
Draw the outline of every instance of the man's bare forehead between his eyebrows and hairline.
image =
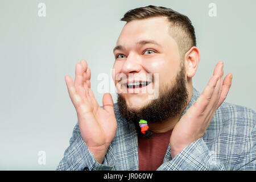
<svg viewBox="0 0 256 182">
<path fill-rule="evenodd" d="M 168 19 L 154 17 L 126 23 L 119 35 L 117 45 L 126 46 L 146 39 L 156 40 L 162 44 L 173 42 Z"/>
</svg>

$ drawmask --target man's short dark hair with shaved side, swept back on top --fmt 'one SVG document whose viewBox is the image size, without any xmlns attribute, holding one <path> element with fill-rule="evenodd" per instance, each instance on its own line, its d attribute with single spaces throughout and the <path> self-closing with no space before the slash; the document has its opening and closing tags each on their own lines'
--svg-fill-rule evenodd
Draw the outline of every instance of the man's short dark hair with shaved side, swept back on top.
<svg viewBox="0 0 256 182">
<path fill-rule="evenodd" d="M 180 55 L 185 53 L 193 46 L 196 46 L 195 28 L 188 16 L 178 13 L 167 7 L 146 6 L 138 7 L 127 11 L 121 21 L 130 22 L 131 20 L 146 19 L 157 16 L 166 16 L 170 21 L 171 36 L 179 46 Z"/>
</svg>

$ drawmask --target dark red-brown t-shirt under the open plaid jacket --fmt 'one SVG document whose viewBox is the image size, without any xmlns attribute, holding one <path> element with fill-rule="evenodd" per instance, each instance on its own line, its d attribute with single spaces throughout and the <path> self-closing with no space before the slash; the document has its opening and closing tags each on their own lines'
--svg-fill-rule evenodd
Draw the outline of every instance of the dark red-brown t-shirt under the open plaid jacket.
<svg viewBox="0 0 256 182">
<path fill-rule="evenodd" d="M 139 170 L 155 171 L 163 164 L 172 130 L 165 133 L 154 133 L 154 137 L 138 137 Z"/>
</svg>

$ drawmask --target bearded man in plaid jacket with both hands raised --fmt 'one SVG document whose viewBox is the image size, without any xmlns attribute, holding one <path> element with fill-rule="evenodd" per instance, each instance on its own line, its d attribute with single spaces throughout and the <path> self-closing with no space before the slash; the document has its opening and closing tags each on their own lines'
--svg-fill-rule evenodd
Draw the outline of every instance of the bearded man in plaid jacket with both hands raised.
<svg viewBox="0 0 256 182">
<path fill-rule="evenodd" d="M 201 95 L 192 86 L 200 53 L 188 17 L 147 6 L 121 20 L 118 103 L 104 94 L 98 105 L 85 60 L 75 82 L 65 77 L 78 123 L 57 170 L 255 170 L 255 111 L 224 102 L 224 63 Z"/>
</svg>

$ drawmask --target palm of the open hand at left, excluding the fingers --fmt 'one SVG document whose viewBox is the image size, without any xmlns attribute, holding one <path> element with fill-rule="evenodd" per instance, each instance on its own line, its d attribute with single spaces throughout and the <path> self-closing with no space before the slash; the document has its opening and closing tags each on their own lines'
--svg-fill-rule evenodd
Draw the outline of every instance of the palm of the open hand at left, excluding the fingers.
<svg viewBox="0 0 256 182">
<path fill-rule="evenodd" d="M 88 147 L 109 144 L 114 138 L 117 127 L 114 111 L 109 112 L 101 108 L 94 97 L 86 100 L 77 108 L 82 138 Z"/>
</svg>

